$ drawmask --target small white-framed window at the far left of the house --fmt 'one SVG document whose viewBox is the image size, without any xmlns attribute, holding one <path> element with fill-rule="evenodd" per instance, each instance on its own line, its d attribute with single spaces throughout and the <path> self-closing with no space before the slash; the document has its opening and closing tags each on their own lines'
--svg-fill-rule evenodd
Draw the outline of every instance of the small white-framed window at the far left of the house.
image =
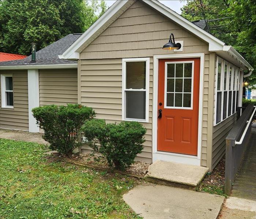
<svg viewBox="0 0 256 219">
<path fill-rule="evenodd" d="M 13 83 L 11 74 L 1 74 L 1 107 L 13 108 Z"/>
</svg>

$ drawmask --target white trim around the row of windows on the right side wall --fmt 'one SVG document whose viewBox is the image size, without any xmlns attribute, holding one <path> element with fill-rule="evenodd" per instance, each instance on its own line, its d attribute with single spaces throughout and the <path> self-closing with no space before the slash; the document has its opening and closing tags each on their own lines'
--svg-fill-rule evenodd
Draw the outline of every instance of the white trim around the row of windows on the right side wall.
<svg viewBox="0 0 256 219">
<path fill-rule="evenodd" d="M 220 88 L 221 88 L 221 92 L 222 92 L 222 97 L 221 97 L 221 116 L 220 116 L 220 121 L 217 123 L 216 122 L 216 115 L 217 115 L 217 92 L 220 92 L 217 90 L 217 83 L 218 83 L 218 63 L 219 61 L 222 63 L 222 70 L 221 70 L 221 75 L 220 75 Z M 225 64 L 227 64 L 227 113 L 226 113 L 226 118 L 223 119 L 223 96 L 224 96 L 224 73 L 225 73 Z M 230 86 L 230 90 L 229 90 L 229 79 L 230 79 L 230 69 L 231 69 L 231 86 Z M 230 116 L 233 116 L 234 114 L 236 114 L 236 111 L 233 113 L 233 91 L 235 91 L 235 108 L 237 108 L 236 105 L 236 93 L 239 92 L 237 90 L 237 76 L 235 77 L 235 81 L 234 81 L 234 74 L 235 74 L 235 69 L 237 69 L 237 72 L 240 72 L 240 68 L 238 68 L 237 66 L 234 66 L 233 64 L 230 64 L 228 61 L 226 61 L 225 59 L 222 59 L 220 57 L 216 57 L 216 67 L 215 67 L 215 95 L 214 95 L 214 126 L 222 123 L 224 120 L 226 120 L 227 118 L 229 118 Z M 233 89 L 235 88 L 235 90 Z M 225 91 L 226 91 L 225 90 Z M 231 114 L 228 115 L 229 112 L 229 92 L 231 91 Z M 238 103 L 238 105 L 240 105 Z"/>
</svg>

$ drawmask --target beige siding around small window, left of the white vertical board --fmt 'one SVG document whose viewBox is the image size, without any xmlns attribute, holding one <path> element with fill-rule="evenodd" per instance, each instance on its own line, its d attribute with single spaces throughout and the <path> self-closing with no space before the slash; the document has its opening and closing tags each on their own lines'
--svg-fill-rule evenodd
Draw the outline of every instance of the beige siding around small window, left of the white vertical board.
<svg viewBox="0 0 256 219">
<path fill-rule="evenodd" d="M 28 131 L 29 106 L 27 92 L 27 70 L 1 70 L 0 74 L 12 74 L 14 95 L 13 109 L 0 107 L 0 127 Z"/>
</svg>

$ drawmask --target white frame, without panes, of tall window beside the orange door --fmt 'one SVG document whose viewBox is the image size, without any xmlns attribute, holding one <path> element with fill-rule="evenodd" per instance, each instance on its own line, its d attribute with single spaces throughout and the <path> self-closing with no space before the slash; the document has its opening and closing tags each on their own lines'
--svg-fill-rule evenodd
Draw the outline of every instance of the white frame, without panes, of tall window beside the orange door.
<svg viewBox="0 0 256 219">
<path fill-rule="evenodd" d="M 133 119 L 126 118 L 125 112 L 125 91 L 126 91 L 126 62 L 146 62 L 146 89 L 133 89 L 133 91 L 145 91 L 146 92 L 146 105 L 145 105 L 145 119 Z M 137 122 L 149 122 L 149 65 L 150 58 L 123 58 L 122 59 L 122 120 L 123 121 L 137 121 Z M 129 91 L 129 89 L 127 89 Z"/>
</svg>

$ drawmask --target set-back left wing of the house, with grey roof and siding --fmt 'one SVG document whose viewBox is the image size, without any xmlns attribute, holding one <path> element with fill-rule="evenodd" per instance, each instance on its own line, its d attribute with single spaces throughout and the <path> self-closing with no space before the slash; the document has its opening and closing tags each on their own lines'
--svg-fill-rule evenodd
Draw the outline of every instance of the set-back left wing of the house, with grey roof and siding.
<svg viewBox="0 0 256 219">
<path fill-rule="evenodd" d="M 69 34 L 20 60 L 0 63 L 0 127 L 39 132 L 31 109 L 77 103 L 77 61 L 59 59 L 81 34 Z"/>
</svg>

